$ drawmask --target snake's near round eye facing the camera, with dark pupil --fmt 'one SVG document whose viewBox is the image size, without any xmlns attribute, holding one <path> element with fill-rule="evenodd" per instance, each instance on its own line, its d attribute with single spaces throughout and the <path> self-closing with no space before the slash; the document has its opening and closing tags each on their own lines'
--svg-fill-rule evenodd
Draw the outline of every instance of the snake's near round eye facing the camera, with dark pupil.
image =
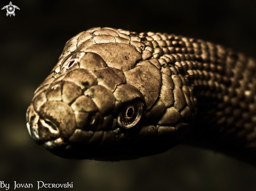
<svg viewBox="0 0 256 191">
<path fill-rule="evenodd" d="M 143 103 L 140 99 L 136 98 L 131 102 L 124 105 L 117 117 L 117 122 L 120 127 L 131 128 L 138 124 L 143 112 Z"/>
</svg>

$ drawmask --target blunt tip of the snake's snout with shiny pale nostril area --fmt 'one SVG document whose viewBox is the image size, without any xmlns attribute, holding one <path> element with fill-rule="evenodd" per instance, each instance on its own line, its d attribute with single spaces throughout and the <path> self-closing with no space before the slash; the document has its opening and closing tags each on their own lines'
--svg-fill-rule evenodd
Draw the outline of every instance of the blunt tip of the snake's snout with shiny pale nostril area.
<svg viewBox="0 0 256 191">
<path fill-rule="evenodd" d="M 36 112 L 31 104 L 27 111 L 28 132 L 39 144 L 69 138 L 75 128 L 75 115 L 71 107 L 61 101 L 47 101 Z"/>
</svg>

